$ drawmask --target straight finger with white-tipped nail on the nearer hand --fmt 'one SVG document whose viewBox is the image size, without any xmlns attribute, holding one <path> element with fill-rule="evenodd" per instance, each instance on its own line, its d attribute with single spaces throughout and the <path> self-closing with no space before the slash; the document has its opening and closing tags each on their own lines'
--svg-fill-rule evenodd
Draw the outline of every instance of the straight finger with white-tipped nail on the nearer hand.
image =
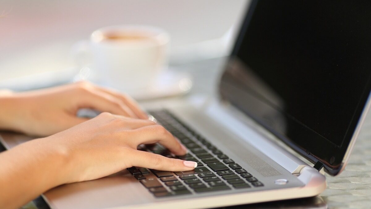
<svg viewBox="0 0 371 209">
<path fill-rule="evenodd" d="M 197 167 L 197 163 L 193 161 L 167 158 L 162 155 L 140 150 L 133 150 L 132 152 L 132 166 L 151 168 L 161 171 L 188 171 Z"/>
</svg>

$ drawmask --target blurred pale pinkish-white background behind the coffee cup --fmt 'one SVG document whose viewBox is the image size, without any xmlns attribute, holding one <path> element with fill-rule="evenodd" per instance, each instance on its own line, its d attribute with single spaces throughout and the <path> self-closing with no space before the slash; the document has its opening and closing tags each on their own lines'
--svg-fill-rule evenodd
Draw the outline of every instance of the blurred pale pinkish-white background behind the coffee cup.
<svg viewBox="0 0 371 209">
<path fill-rule="evenodd" d="M 165 29 L 171 35 L 170 65 L 225 56 L 247 1 L 1 0 L 0 88 L 71 80 L 72 46 L 109 25 Z"/>
</svg>

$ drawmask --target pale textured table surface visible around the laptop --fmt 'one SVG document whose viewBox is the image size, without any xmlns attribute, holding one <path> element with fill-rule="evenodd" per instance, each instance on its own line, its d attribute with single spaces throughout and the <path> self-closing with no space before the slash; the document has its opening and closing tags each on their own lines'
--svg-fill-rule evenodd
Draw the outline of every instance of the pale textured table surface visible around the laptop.
<svg viewBox="0 0 371 209">
<path fill-rule="evenodd" d="M 189 95 L 216 93 L 217 81 L 224 59 L 213 59 L 175 66 L 179 71 L 188 71 L 194 77 L 194 86 Z M 189 96 L 188 95 L 188 96 Z M 371 116 L 362 128 L 349 163 L 339 176 L 326 175 L 327 189 L 317 197 L 285 200 L 229 208 L 370 208 L 371 206 Z M 41 199 L 36 199 L 23 208 L 49 208 Z"/>
</svg>

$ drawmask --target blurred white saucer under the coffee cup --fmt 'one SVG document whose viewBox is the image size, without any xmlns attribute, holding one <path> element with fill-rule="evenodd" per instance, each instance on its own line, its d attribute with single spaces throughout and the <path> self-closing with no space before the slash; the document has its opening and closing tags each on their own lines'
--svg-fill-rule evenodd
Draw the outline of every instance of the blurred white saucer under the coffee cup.
<svg viewBox="0 0 371 209">
<path fill-rule="evenodd" d="M 90 80 L 90 79 L 88 79 Z M 95 81 L 101 86 L 111 87 L 108 82 Z M 161 97 L 176 96 L 188 93 L 192 88 L 192 78 L 187 72 L 166 70 L 158 75 L 157 79 L 145 89 L 127 90 L 118 89 L 129 94 L 135 100 L 157 99 Z"/>
</svg>

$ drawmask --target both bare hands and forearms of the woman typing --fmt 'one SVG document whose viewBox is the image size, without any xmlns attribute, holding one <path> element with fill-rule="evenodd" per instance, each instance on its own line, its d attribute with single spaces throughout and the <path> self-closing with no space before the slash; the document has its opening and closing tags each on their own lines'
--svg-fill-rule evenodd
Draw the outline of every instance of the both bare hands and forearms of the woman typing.
<svg viewBox="0 0 371 209">
<path fill-rule="evenodd" d="M 77 118 L 82 107 L 105 113 Z M 139 144 L 158 142 L 176 155 L 186 152 L 146 118 L 129 97 L 89 83 L 3 94 L 0 129 L 47 137 L 0 153 L 0 208 L 17 208 L 60 184 L 98 179 L 131 166 L 169 171 L 197 166 L 137 150 Z"/>
</svg>

